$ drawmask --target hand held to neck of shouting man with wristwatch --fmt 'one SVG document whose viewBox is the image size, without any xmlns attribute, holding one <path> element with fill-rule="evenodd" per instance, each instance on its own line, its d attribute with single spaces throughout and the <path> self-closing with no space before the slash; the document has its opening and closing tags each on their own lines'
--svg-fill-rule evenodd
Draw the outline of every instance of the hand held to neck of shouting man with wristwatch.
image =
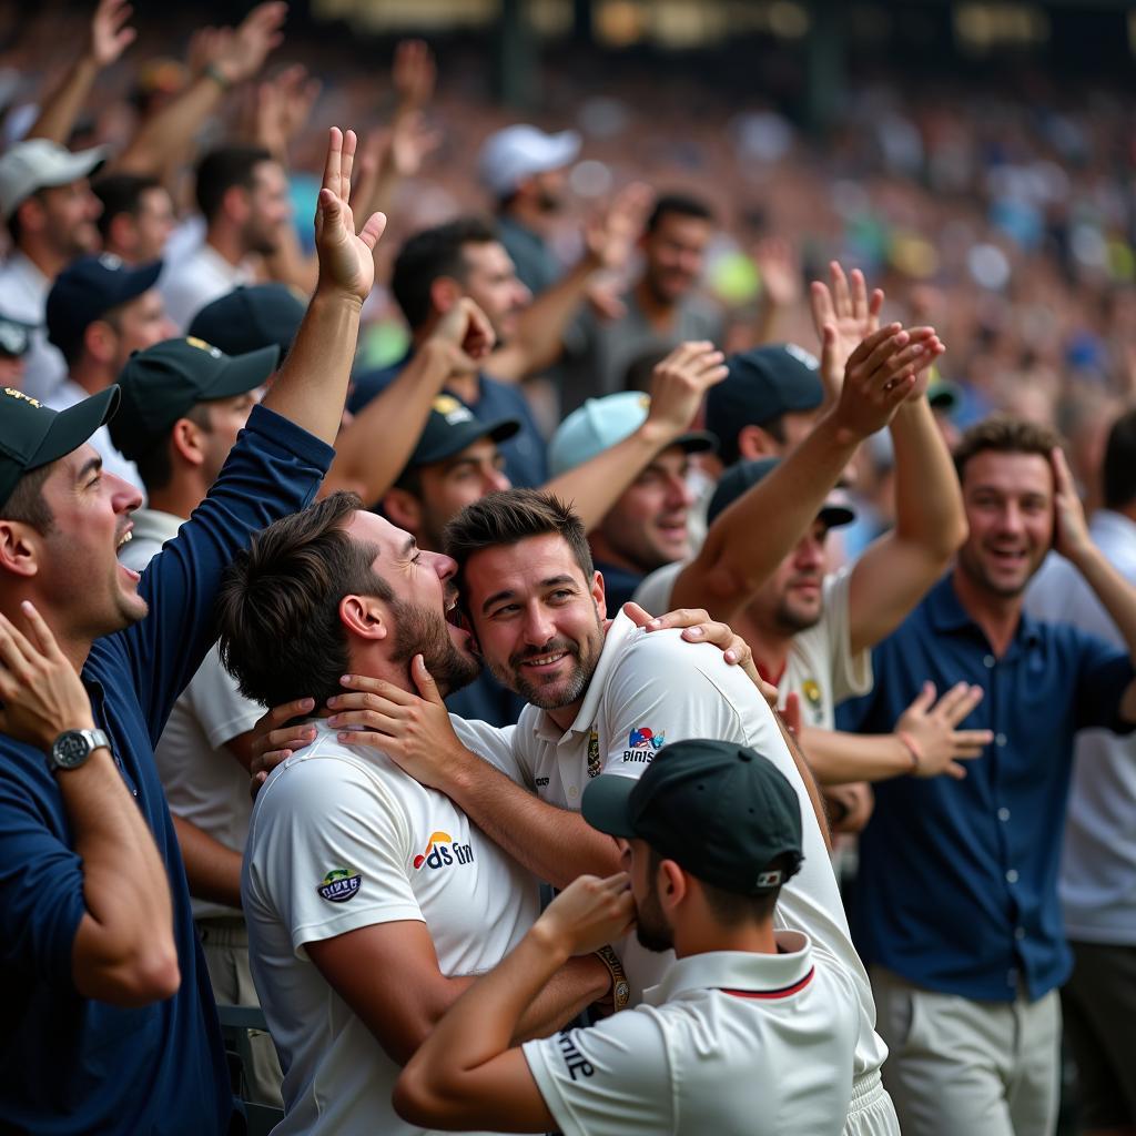
<svg viewBox="0 0 1136 1136">
<path fill-rule="evenodd" d="M 0 615 L 0 730 L 47 753 L 65 729 L 91 729 L 91 700 L 78 673 L 30 601 L 25 635 Z"/>
</svg>

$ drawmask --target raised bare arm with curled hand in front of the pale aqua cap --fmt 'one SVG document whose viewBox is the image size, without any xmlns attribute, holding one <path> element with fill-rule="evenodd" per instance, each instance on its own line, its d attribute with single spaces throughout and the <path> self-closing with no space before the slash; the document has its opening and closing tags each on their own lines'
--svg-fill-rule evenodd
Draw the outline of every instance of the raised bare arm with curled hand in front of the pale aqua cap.
<svg viewBox="0 0 1136 1136">
<path fill-rule="evenodd" d="M 726 377 L 711 343 L 682 343 L 651 376 L 651 407 L 643 425 L 621 442 L 552 478 L 544 492 L 569 501 L 588 532 L 661 450 L 690 429 L 705 392 Z"/>
</svg>

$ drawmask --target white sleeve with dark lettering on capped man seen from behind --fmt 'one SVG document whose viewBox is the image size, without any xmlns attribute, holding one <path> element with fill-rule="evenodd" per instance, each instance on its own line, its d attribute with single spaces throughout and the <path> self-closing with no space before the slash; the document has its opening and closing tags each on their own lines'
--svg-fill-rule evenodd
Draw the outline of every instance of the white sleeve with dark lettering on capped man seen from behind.
<svg viewBox="0 0 1136 1136">
<path fill-rule="evenodd" d="M 675 1130 L 670 1058 L 654 1011 L 626 1010 L 521 1051 L 563 1136 Z"/>
</svg>

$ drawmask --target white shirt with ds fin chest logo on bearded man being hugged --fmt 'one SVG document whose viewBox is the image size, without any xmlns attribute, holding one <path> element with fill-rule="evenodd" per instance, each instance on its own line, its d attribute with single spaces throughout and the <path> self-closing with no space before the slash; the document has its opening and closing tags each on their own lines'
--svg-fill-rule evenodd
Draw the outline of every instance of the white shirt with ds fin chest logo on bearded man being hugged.
<svg viewBox="0 0 1136 1136">
<path fill-rule="evenodd" d="M 304 945 L 409 919 L 429 928 L 442 974 L 479 974 L 532 926 L 536 882 L 449 797 L 315 725 L 316 741 L 257 796 L 241 880 L 252 975 L 284 1069 L 286 1116 L 274 1131 L 409 1136 L 421 1129 L 391 1106 L 399 1066 Z"/>
</svg>

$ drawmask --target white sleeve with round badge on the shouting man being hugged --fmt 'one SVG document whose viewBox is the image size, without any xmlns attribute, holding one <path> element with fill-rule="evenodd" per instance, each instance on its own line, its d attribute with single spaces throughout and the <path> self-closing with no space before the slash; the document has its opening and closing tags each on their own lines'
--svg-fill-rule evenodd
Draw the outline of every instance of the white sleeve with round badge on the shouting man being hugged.
<svg viewBox="0 0 1136 1136">
<path fill-rule="evenodd" d="M 282 767 L 260 792 L 249 880 L 298 957 L 306 943 L 360 927 L 425 921 L 410 885 L 406 816 L 365 769 L 310 757 Z"/>
</svg>

